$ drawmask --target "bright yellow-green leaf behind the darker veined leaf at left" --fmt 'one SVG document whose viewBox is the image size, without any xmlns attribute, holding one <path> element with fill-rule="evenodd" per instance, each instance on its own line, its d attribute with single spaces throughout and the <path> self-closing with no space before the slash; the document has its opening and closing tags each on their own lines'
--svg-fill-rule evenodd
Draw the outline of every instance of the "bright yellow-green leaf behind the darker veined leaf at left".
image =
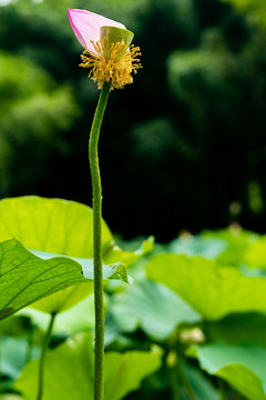
<svg viewBox="0 0 266 400">
<path fill-rule="evenodd" d="M 21 197 L 0 201 L 0 241 L 16 238 L 35 256 L 47 260 L 54 257 L 71 257 L 83 268 L 85 278 L 93 279 L 92 210 L 91 208 L 61 199 Z M 149 251 L 150 241 L 136 252 L 121 250 L 102 222 L 103 257 L 115 262 L 103 264 L 103 277 L 127 281 L 126 270 L 121 261 L 130 264 Z M 150 243 L 150 244 L 149 244 Z M 106 262 L 106 261 L 105 261 Z M 88 288 L 90 286 L 88 284 Z M 90 291 L 90 289 L 88 289 Z M 88 296 L 85 287 L 72 288 L 52 294 L 45 301 L 34 304 L 45 312 L 61 312 L 73 307 Z"/>
</svg>

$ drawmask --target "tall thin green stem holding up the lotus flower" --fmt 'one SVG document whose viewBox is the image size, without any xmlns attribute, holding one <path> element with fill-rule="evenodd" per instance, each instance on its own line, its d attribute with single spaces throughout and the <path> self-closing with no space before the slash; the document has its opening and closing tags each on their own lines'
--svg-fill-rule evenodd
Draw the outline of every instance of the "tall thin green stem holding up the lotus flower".
<svg viewBox="0 0 266 400">
<path fill-rule="evenodd" d="M 103 399 L 103 361 L 104 361 L 104 304 L 102 279 L 102 186 L 98 158 L 98 142 L 103 114 L 106 108 L 111 82 L 103 84 L 94 119 L 92 122 L 89 158 L 93 189 L 93 270 L 95 304 L 95 362 L 94 362 L 94 400 Z"/>
</svg>

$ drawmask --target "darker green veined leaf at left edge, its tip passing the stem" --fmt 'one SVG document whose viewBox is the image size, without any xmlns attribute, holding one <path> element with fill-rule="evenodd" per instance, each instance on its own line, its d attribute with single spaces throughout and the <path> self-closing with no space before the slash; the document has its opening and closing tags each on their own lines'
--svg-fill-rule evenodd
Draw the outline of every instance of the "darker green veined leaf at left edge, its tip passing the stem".
<svg viewBox="0 0 266 400">
<path fill-rule="evenodd" d="M 0 243 L 0 320 L 21 308 L 52 294 L 61 289 L 76 283 L 88 283 L 93 279 L 86 271 L 82 274 L 80 263 L 71 258 L 55 257 L 43 260 L 28 251 L 18 240 L 11 239 Z M 104 279 L 123 279 L 126 277 L 125 268 L 104 267 Z M 64 293 L 62 297 L 66 301 Z M 74 297 L 76 299 L 76 296 Z M 55 304 L 54 310 L 60 310 L 62 302 Z"/>
</svg>

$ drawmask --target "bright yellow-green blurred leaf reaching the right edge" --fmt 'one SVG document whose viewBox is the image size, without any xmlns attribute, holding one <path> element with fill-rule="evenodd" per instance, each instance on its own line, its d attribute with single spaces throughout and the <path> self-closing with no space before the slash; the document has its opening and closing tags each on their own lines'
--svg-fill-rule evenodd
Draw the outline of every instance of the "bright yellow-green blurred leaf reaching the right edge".
<svg viewBox="0 0 266 400">
<path fill-rule="evenodd" d="M 233 312 L 266 311 L 266 279 L 245 277 L 201 257 L 158 254 L 146 267 L 149 278 L 178 293 L 208 320 Z"/>
</svg>

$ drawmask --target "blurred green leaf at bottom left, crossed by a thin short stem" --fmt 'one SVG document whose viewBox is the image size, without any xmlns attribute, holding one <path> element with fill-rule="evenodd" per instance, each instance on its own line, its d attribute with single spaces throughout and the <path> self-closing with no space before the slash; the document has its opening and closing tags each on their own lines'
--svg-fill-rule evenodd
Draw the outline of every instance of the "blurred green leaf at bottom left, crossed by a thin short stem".
<svg viewBox="0 0 266 400">
<path fill-rule="evenodd" d="M 48 351 L 43 400 L 93 399 L 93 363 L 92 334 L 69 339 L 55 350 Z M 14 386 L 24 399 L 35 399 L 38 361 L 27 364 Z"/>
</svg>

